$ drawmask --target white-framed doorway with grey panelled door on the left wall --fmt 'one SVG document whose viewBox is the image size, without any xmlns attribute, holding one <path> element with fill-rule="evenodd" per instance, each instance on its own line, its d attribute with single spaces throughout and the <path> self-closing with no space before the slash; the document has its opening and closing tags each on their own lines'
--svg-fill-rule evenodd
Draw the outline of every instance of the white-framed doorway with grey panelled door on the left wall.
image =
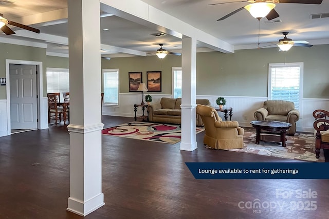
<svg viewBox="0 0 329 219">
<path fill-rule="evenodd" d="M 40 129 L 42 63 L 6 60 L 7 134 Z"/>
</svg>

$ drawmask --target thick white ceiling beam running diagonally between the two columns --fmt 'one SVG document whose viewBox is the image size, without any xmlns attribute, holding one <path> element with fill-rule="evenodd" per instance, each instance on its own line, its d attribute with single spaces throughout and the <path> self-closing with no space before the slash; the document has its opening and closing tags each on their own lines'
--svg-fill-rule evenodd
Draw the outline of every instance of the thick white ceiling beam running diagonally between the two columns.
<svg viewBox="0 0 329 219">
<path fill-rule="evenodd" d="M 140 0 L 100 0 L 101 9 L 151 29 L 182 38 L 194 37 L 199 44 L 224 53 L 234 53 L 234 46 Z M 138 9 L 138 10 L 137 10 Z"/>
</svg>

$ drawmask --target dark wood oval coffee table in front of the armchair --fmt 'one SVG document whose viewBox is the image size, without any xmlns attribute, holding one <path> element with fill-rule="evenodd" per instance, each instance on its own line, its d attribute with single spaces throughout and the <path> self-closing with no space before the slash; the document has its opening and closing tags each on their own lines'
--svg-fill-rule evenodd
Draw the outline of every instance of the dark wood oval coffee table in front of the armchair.
<svg viewBox="0 0 329 219">
<path fill-rule="evenodd" d="M 286 146 L 286 131 L 290 128 L 290 123 L 278 121 L 251 121 L 250 124 L 256 129 L 256 142 L 259 145 L 261 134 L 280 135 L 282 147 Z"/>
</svg>

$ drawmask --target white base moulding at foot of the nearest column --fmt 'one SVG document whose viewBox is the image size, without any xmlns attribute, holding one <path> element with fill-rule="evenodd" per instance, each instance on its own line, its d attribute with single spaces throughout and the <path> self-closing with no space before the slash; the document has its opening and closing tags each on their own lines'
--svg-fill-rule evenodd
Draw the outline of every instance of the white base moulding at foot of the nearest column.
<svg viewBox="0 0 329 219">
<path fill-rule="evenodd" d="M 66 208 L 66 210 L 76 213 L 80 216 L 86 216 L 87 214 L 92 213 L 103 205 L 105 205 L 103 193 L 100 193 L 99 195 L 90 198 L 86 202 L 82 202 L 80 200 L 76 200 L 75 198 L 69 197 L 68 207 Z"/>
</svg>

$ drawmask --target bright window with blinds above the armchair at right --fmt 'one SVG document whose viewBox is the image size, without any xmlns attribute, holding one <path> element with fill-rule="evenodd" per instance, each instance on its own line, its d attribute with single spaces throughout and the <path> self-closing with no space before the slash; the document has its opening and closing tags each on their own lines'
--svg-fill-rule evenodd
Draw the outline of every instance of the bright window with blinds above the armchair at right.
<svg viewBox="0 0 329 219">
<path fill-rule="evenodd" d="M 294 102 L 301 109 L 303 63 L 269 64 L 268 99 Z"/>
</svg>

